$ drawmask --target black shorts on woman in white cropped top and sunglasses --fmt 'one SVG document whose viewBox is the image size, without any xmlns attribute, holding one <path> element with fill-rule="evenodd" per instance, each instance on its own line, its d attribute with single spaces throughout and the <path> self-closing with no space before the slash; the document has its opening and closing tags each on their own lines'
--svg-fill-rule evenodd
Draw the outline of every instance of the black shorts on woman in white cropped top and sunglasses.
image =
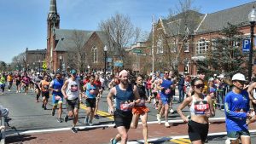
<svg viewBox="0 0 256 144">
<path fill-rule="evenodd" d="M 201 124 L 193 120 L 189 120 L 188 125 L 190 141 L 206 141 L 209 130 L 209 124 Z"/>
</svg>

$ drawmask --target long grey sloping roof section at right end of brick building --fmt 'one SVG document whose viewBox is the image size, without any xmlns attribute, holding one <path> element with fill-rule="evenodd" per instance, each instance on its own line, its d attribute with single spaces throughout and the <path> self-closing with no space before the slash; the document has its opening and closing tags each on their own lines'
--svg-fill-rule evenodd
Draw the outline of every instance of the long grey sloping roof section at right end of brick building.
<svg viewBox="0 0 256 144">
<path fill-rule="evenodd" d="M 245 24 L 248 25 L 248 14 L 251 9 L 253 9 L 253 5 L 256 5 L 256 2 L 246 3 L 230 9 L 207 14 L 196 33 L 218 32 L 228 26 L 228 23 L 239 25 L 246 22 Z"/>
</svg>

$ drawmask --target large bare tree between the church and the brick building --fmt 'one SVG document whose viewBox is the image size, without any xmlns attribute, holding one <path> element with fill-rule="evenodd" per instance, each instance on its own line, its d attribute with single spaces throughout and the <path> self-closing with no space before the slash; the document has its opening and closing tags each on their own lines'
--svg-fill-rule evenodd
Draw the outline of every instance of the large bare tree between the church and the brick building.
<svg viewBox="0 0 256 144">
<path fill-rule="evenodd" d="M 119 55 L 119 59 L 124 60 L 124 64 L 127 63 L 131 57 L 126 55 L 125 49 L 140 39 L 140 28 L 134 28 L 128 15 L 116 13 L 108 20 L 102 20 L 99 29 L 106 32 L 108 55 Z"/>
</svg>

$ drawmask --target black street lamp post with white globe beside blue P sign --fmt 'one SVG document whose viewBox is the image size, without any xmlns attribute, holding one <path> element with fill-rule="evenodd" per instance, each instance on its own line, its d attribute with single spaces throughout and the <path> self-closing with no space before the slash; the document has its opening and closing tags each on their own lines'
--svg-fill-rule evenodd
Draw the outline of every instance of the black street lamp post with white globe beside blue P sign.
<svg viewBox="0 0 256 144">
<path fill-rule="evenodd" d="M 249 52 L 249 63 L 248 63 L 248 80 L 251 82 L 252 80 L 252 66 L 253 66 L 253 35 L 254 35 L 254 25 L 256 21 L 256 11 L 253 6 L 253 9 L 251 12 L 248 14 L 249 21 L 251 23 L 251 47 L 250 47 L 250 52 Z"/>
</svg>

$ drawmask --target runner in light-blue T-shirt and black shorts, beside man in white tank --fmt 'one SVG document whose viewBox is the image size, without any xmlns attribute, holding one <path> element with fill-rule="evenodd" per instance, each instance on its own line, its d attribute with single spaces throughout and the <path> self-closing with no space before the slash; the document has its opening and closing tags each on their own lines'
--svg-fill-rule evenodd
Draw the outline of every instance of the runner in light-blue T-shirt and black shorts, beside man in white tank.
<svg viewBox="0 0 256 144">
<path fill-rule="evenodd" d="M 86 104 L 86 118 L 84 119 L 84 124 L 92 126 L 92 119 L 94 118 L 96 110 L 96 96 L 98 95 L 98 87 L 95 84 L 95 76 L 90 76 L 90 83 L 85 84 L 83 95 Z"/>
</svg>

